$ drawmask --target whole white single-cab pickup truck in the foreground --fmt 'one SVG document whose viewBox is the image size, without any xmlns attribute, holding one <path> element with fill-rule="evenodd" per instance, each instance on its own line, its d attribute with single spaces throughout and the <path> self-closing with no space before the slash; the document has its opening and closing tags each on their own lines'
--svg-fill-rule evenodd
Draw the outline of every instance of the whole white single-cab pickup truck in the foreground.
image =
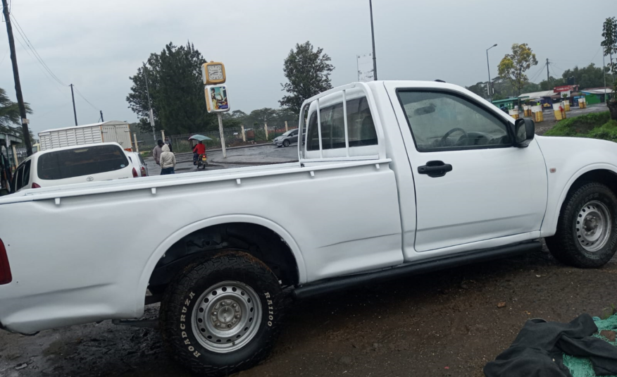
<svg viewBox="0 0 617 377">
<path fill-rule="evenodd" d="M 288 292 L 537 251 L 541 237 L 581 268 L 616 251 L 612 142 L 535 137 L 466 89 L 414 81 L 319 94 L 299 132 L 298 163 L 1 198 L 0 327 L 138 319 L 160 300 L 170 354 L 220 376 L 266 357 Z"/>
</svg>

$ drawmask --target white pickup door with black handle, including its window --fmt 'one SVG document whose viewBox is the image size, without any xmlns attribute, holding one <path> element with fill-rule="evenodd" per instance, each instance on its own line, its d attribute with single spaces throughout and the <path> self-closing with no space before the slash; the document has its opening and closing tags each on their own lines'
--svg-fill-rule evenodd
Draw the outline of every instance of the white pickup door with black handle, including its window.
<svg viewBox="0 0 617 377">
<path fill-rule="evenodd" d="M 497 246 L 499 237 L 539 237 L 547 171 L 535 140 L 514 147 L 513 120 L 466 92 L 385 85 L 408 135 L 416 186 L 415 250 L 406 259 L 483 240 Z"/>
</svg>

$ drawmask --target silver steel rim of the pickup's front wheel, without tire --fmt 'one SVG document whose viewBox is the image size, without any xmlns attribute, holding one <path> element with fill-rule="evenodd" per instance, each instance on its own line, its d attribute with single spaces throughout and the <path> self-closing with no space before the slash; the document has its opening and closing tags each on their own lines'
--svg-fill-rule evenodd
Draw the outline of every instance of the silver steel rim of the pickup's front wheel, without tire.
<svg viewBox="0 0 617 377">
<path fill-rule="evenodd" d="M 582 206 L 575 220 L 580 246 L 587 252 L 602 249 L 609 242 L 611 225 L 611 212 L 604 203 L 592 200 Z"/>
</svg>

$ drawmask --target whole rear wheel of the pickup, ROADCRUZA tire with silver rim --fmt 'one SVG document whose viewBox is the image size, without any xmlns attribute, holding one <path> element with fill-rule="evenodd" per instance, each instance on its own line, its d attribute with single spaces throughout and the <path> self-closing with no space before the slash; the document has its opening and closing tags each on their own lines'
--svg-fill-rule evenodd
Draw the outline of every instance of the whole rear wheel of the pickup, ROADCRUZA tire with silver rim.
<svg viewBox="0 0 617 377">
<path fill-rule="evenodd" d="M 249 254 L 223 252 L 184 268 L 161 302 L 163 343 L 201 376 L 228 376 L 264 359 L 280 332 L 283 295 Z"/>
</svg>

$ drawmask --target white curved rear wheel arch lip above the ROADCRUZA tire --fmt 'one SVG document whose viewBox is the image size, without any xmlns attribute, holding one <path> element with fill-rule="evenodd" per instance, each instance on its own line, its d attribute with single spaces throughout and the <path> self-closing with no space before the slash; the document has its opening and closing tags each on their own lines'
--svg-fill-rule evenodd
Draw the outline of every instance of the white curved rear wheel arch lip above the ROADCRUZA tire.
<svg viewBox="0 0 617 377">
<path fill-rule="evenodd" d="M 281 225 L 270 221 L 266 218 L 261 218 L 258 216 L 251 215 L 227 215 L 227 216 L 218 216 L 214 218 L 207 218 L 201 221 L 197 221 L 195 223 L 186 225 L 184 228 L 181 228 L 175 233 L 169 235 L 161 244 L 156 247 L 154 252 L 149 257 L 146 266 L 144 267 L 142 274 L 139 278 L 139 286 L 137 292 L 139 292 L 139 297 L 137 297 L 137 312 L 143 310 L 143 297 L 145 292 L 148 289 L 149 281 L 154 273 L 156 265 L 158 261 L 163 257 L 168 250 L 173 247 L 177 242 L 182 240 L 182 238 L 191 235 L 192 233 L 196 233 L 199 230 L 204 230 L 206 228 L 211 228 L 216 225 L 227 225 L 227 224 L 237 224 L 237 223 L 247 223 L 252 225 L 259 225 L 263 228 L 267 228 L 274 233 L 276 233 L 284 242 L 287 244 L 289 251 L 292 254 L 292 257 L 295 262 L 295 267 L 297 268 L 297 283 L 306 283 L 306 265 L 304 263 L 304 258 L 302 257 L 301 251 L 297 245 L 297 242 L 294 240 L 291 234 L 285 230 Z"/>
</svg>

